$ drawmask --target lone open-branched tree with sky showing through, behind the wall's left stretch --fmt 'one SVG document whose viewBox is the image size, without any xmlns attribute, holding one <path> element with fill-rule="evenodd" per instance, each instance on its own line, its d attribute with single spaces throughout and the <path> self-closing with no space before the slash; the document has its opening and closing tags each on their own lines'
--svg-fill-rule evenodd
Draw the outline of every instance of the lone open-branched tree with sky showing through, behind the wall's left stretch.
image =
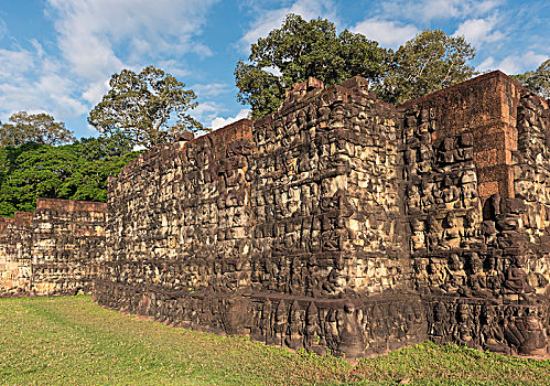
<svg viewBox="0 0 550 386">
<path fill-rule="evenodd" d="M 109 85 L 88 117 L 104 136 L 123 135 L 149 149 L 183 131 L 203 129 L 187 114 L 197 106 L 195 93 L 162 69 L 149 66 L 139 74 L 122 69 L 111 76 Z"/>
</svg>

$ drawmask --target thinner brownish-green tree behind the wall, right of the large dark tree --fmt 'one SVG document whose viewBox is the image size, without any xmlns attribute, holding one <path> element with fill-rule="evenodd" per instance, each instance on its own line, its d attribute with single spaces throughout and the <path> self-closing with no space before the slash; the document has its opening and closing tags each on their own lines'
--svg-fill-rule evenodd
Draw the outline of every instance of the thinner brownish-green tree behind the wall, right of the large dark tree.
<svg viewBox="0 0 550 386">
<path fill-rule="evenodd" d="M 475 72 L 467 62 L 475 50 L 463 36 L 424 30 L 392 55 L 384 81 L 375 93 L 384 100 L 402 104 L 467 81 Z"/>
</svg>

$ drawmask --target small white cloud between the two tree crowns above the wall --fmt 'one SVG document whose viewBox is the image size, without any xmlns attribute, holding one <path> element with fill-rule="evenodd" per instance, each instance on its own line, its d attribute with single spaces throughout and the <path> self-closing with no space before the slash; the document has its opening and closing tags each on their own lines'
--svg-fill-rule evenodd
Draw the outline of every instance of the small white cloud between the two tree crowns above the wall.
<svg viewBox="0 0 550 386">
<path fill-rule="evenodd" d="M 377 18 L 364 20 L 354 25 L 351 30 L 353 32 L 362 33 L 368 39 L 375 40 L 381 45 L 392 49 L 399 47 L 399 45 L 405 44 L 420 32 L 419 29 L 412 24 L 403 24 Z"/>
</svg>

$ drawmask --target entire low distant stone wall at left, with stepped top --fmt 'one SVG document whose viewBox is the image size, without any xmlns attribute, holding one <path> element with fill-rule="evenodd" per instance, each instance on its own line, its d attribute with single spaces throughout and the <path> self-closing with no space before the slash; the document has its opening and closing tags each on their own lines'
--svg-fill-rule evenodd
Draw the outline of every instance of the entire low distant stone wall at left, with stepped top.
<svg viewBox="0 0 550 386">
<path fill-rule="evenodd" d="M 39 199 L 0 223 L 0 296 L 90 293 L 105 243 L 104 203 Z"/>
</svg>

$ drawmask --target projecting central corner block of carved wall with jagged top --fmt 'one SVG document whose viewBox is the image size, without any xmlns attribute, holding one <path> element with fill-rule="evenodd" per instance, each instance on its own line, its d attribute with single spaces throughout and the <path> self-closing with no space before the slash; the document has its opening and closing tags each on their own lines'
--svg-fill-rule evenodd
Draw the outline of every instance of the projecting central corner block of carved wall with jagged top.
<svg viewBox="0 0 550 386">
<path fill-rule="evenodd" d="M 425 337 L 400 232 L 400 116 L 367 88 L 309 79 L 255 122 L 255 340 L 356 357 Z"/>
</svg>

